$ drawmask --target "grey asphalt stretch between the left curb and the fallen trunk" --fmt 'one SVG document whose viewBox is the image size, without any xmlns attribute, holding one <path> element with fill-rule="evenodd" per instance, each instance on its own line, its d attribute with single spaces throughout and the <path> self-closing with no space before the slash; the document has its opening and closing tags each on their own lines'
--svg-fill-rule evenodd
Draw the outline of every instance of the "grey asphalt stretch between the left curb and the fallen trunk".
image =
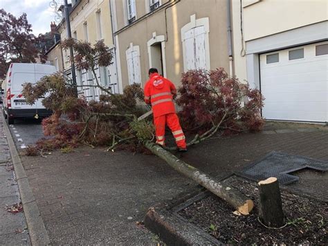
<svg viewBox="0 0 328 246">
<path fill-rule="evenodd" d="M 23 164 L 28 159 L 23 157 Z M 85 147 L 33 159 L 40 161 L 39 169 L 26 174 L 37 172 L 30 184 L 35 197 L 44 195 L 37 204 L 55 244 L 155 243 L 154 234 L 136 222 L 154 202 L 178 195 L 191 183 L 164 161 L 130 152 Z"/>
</svg>

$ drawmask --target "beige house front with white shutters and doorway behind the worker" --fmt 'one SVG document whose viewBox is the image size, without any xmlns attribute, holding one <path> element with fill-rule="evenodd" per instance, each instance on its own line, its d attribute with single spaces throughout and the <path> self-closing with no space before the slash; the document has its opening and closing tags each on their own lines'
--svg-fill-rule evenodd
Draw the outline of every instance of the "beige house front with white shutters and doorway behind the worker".
<svg viewBox="0 0 328 246">
<path fill-rule="evenodd" d="M 156 67 L 175 85 L 189 69 L 229 71 L 227 1 L 113 0 L 120 88 Z"/>
</svg>

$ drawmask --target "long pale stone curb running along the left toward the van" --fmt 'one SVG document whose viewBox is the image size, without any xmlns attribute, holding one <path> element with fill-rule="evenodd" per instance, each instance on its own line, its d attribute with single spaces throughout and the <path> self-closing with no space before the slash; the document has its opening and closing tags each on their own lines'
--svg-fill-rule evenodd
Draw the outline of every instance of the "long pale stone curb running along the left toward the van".
<svg viewBox="0 0 328 246">
<path fill-rule="evenodd" d="M 17 152 L 15 142 L 12 139 L 12 135 L 2 114 L 1 117 L 3 119 L 3 128 L 6 132 L 12 165 L 14 166 L 19 193 L 21 195 L 21 202 L 23 204 L 28 233 L 30 235 L 30 242 L 32 245 L 50 245 L 51 241 L 48 232 L 46 231 L 44 221 L 42 220 L 39 208 L 37 207 L 33 191 L 30 188 L 30 182 L 28 182 L 28 177 L 26 176 L 24 167 L 21 164 L 21 158 Z"/>
</svg>

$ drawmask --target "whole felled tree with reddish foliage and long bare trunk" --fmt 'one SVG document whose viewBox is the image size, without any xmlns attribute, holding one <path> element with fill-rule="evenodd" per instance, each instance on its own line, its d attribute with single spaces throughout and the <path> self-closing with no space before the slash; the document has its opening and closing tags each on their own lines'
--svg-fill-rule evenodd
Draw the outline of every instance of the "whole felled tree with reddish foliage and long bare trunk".
<svg viewBox="0 0 328 246">
<path fill-rule="evenodd" d="M 93 74 L 97 66 L 111 64 L 112 57 L 102 42 L 91 47 L 69 39 L 63 42 L 63 46 L 73 46 L 77 67 L 91 70 Z M 236 78 L 228 78 L 224 69 L 188 71 L 183 74 L 182 82 L 181 95 L 177 100 L 182 108 L 181 123 L 188 132 L 194 133 L 188 146 L 209 139 L 218 131 L 241 132 L 262 128 L 263 120 L 259 114 L 263 103 L 261 94 Z M 103 91 L 99 101 L 88 102 L 83 97 L 75 97 L 76 87 L 88 86 Z M 75 86 L 67 82 L 62 74 L 56 73 L 45 76 L 35 85 L 24 85 L 23 95 L 30 104 L 45 97 L 44 106 L 53 110 L 53 115 L 42 121 L 44 134 L 52 138 L 42 139 L 34 149 L 28 148 L 27 151 L 44 152 L 80 144 L 108 146 L 111 151 L 116 148 L 149 150 L 175 170 L 226 200 L 239 213 L 246 215 L 253 209 L 253 202 L 235 188 L 217 182 L 152 142 L 152 121 L 147 118 L 138 121 L 138 116 L 145 112 L 140 107 L 143 104 L 140 85 L 125 87 L 123 94 L 112 94 L 110 89 L 101 85 L 97 76 L 95 85 Z"/>
</svg>

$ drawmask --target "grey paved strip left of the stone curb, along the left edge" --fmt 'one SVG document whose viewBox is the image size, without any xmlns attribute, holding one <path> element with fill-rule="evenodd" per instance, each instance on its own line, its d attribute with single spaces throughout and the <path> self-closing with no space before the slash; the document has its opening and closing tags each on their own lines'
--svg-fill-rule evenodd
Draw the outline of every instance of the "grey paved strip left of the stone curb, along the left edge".
<svg viewBox="0 0 328 246">
<path fill-rule="evenodd" d="M 3 123 L 0 117 L 0 245 L 30 245 L 24 213 L 6 210 L 7 205 L 19 203 L 21 198 Z"/>
</svg>

